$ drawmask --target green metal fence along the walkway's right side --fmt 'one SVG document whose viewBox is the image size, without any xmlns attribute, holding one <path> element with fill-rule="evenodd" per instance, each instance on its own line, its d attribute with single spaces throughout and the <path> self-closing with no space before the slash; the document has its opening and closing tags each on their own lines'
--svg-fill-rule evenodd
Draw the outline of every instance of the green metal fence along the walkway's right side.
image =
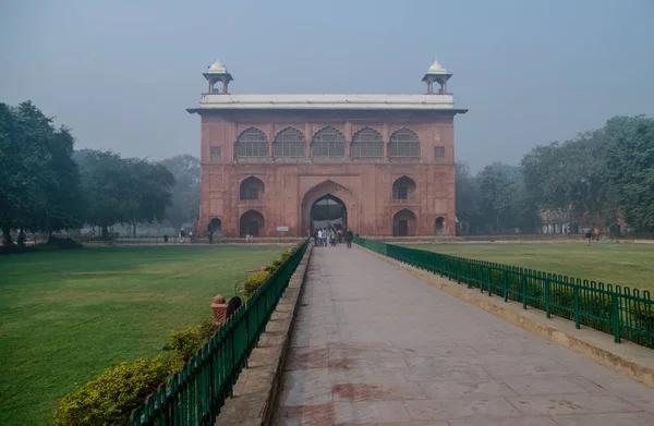
<svg viewBox="0 0 654 426">
<path fill-rule="evenodd" d="M 654 348 L 654 303 L 649 291 L 605 284 L 491 261 L 426 252 L 355 238 L 354 243 L 396 260 L 480 289 L 488 295 L 522 303 L 553 315 Z"/>
</svg>

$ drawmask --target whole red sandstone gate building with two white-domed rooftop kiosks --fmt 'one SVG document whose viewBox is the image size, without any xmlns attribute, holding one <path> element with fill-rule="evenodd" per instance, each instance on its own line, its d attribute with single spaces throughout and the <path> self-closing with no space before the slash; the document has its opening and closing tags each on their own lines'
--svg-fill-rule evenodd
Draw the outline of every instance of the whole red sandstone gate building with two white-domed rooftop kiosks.
<svg viewBox="0 0 654 426">
<path fill-rule="evenodd" d="M 187 110 L 202 117 L 203 229 L 455 234 L 453 119 L 467 110 L 455 108 L 438 62 L 425 95 L 232 95 L 220 61 L 204 76 L 208 93 Z"/>
</svg>

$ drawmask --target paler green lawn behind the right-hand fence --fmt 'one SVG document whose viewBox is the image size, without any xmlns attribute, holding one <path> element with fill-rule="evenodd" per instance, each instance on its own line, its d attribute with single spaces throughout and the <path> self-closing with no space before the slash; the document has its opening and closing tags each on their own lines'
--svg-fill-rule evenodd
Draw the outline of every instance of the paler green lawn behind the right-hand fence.
<svg viewBox="0 0 654 426">
<path fill-rule="evenodd" d="M 412 245 L 467 258 L 537 269 L 654 293 L 654 244 L 450 243 Z"/>
</svg>

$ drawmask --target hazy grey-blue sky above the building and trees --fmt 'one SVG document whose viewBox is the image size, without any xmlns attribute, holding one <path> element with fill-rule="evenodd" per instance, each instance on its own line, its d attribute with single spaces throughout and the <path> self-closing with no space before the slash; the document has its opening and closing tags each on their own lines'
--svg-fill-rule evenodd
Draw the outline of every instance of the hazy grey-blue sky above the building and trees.
<svg viewBox="0 0 654 426">
<path fill-rule="evenodd" d="M 199 153 L 201 73 L 246 93 L 424 93 L 455 75 L 456 156 L 479 170 L 536 144 L 654 115 L 654 0 L 0 0 L 0 101 L 32 99 L 78 147 Z"/>
</svg>

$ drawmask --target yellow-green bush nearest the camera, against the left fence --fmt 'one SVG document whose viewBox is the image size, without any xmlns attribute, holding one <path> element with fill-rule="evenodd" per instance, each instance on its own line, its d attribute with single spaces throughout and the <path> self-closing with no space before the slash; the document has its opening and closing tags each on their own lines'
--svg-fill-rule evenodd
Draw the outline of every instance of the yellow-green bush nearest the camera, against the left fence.
<svg viewBox="0 0 654 426">
<path fill-rule="evenodd" d="M 61 400 L 55 425 L 124 425 L 132 410 L 155 392 L 169 373 L 168 362 L 160 356 L 108 368 Z"/>
</svg>

